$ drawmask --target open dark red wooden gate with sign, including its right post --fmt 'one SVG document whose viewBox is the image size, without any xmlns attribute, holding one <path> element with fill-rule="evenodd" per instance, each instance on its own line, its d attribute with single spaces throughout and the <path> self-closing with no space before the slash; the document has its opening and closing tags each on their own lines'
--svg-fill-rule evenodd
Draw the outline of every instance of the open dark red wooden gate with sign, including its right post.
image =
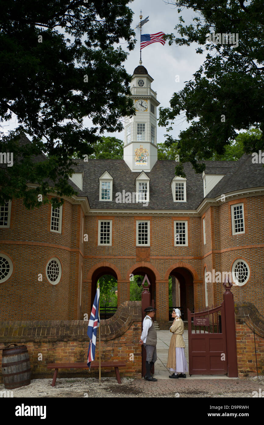
<svg viewBox="0 0 264 425">
<path fill-rule="evenodd" d="M 223 286 L 225 292 L 220 306 L 196 313 L 191 313 L 188 309 L 190 375 L 238 376 L 235 309 L 230 290 L 232 283 L 229 283 L 229 286 L 224 283 Z M 200 318 L 201 323 L 195 326 L 194 332 L 192 332 L 192 317 L 194 322 Z M 204 320 L 207 317 L 209 319 Z"/>
</svg>

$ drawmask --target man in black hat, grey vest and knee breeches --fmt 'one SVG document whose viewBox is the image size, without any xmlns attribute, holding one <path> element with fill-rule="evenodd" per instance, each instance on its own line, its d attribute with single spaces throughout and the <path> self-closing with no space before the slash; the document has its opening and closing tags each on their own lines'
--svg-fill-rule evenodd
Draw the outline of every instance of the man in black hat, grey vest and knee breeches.
<svg viewBox="0 0 264 425">
<path fill-rule="evenodd" d="M 153 317 L 155 316 L 155 311 L 152 306 L 147 307 L 144 312 L 146 313 L 146 316 L 143 320 L 143 330 L 141 334 L 141 338 L 139 341 L 140 345 L 144 345 L 147 352 L 146 357 L 146 376 L 145 379 L 147 381 L 156 382 L 157 379 L 153 378 L 153 376 L 150 375 L 150 369 L 153 367 L 154 363 L 157 360 L 157 332 L 154 326 Z"/>
</svg>

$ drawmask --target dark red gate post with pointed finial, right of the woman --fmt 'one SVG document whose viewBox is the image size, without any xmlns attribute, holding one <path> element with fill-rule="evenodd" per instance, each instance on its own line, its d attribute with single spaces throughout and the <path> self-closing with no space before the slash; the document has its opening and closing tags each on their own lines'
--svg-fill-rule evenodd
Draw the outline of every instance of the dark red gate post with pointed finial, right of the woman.
<svg viewBox="0 0 264 425">
<path fill-rule="evenodd" d="M 223 286 L 225 292 L 223 293 L 223 300 L 225 305 L 225 332 L 226 332 L 226 355 L 228 377 L 238 377 L 237 370 L 237 354 L 236 354 L 236 319 L 235 319 L 235 306 L 234 297 L 231 292 L 233 286 L 232 282 L 224 282 Z"/>
</svg>

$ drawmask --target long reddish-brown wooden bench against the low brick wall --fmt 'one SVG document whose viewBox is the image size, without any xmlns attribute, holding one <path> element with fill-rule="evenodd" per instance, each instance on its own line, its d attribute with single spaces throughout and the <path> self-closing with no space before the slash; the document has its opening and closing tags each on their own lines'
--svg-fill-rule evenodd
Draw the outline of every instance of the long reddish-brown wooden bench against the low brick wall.
<svg viewBox="0 0 264 425">
<path fill-rule="evenodd" d="M 106 368 L 106 369 L 114 368 L 116 377 L 117 377 L 117 382 L 119 384 L 121 384 L 121 379 L 119 375 L 119 367 L 124 367 L 124 366 L 126 366 L 125 362 L 101 362 L 101 368 Z M 47 368 L 55 369 L 54 375 L 53 375 L 53 381 L 51 384 L 52 387 L 55 387 L 58 369 L 72 369 L 72 368 L 87 369 L 89 368 L 89 366 L 87 366 L 87 363 L 48 363 Z M 95 369 L 95 368 L 99 368 L 99 362 L 91 363 L 91 369 Z"/>
</svg>

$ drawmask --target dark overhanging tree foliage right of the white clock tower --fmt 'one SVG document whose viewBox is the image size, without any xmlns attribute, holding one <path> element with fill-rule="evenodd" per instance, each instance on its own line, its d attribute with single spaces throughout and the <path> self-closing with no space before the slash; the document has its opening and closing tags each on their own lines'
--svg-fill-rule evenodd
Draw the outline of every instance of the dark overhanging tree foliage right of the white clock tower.
<svg viewBox="0 0 264 425">
<path fill-rule="evenodd" d="M 178 13 L 186 7 L 196 14 L 194 25 L 186 25 L 180 16 L 180 23 L 175 27 L 178 34 L 166 36 L 169 44 L 190 46 L 196 42 L 197 54 L 207 52 L 194 78 L 173 94 L 170 108 L 160 108 L 159 125 L 169 126 L 166 144 L 170 147 L 175 143 L 180 156 L 176 174 L 185 176 L 183 162 L 190 161 L 197 172 L 203 172 L 205 164 L 198 164 L 197 160 L 225 155 L 226 145 L 236 139 L 236 130 L 256 127 L 263 134 L 264 9 L 262 0 L 167 3 L 178 6 Z M 214 34 L 234 34 L 234 40 L 217 44 L 211 36 L 210 42 L 209 34 L 213 31 Z M 218 40 L 222 42 L 222 36 Z M 185 116 L 190 126 L 174 139 L 170 131 L 178 116 Z M 246 153 L 257 152 L 263 146 L 263 136 L 243 140 Z"/>
</svg>

